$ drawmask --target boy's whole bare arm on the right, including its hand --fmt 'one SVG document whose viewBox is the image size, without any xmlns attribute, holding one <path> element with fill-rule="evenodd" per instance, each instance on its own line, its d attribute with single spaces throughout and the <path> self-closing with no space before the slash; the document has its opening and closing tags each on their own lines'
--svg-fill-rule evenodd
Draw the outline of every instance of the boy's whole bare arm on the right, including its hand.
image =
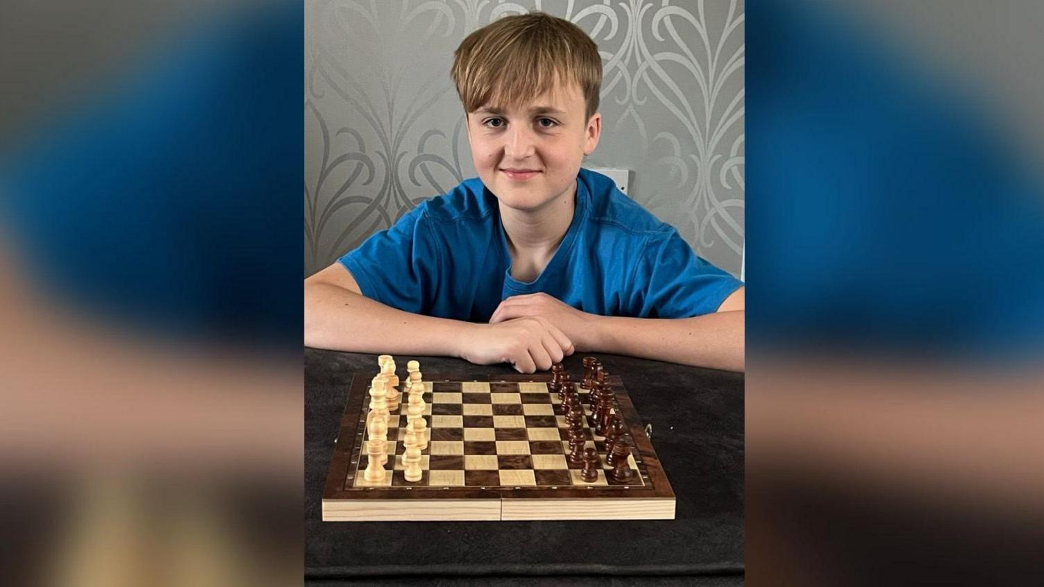
<svg viewBox="0 0 1044 587">
<path fill-rule="evenodd" d="M 743 290 L 733 291 L 714 313 L 686 319 L 600 316 L 546 294 L 515 296 L 501 302 L 490 323 L 542 316 L 561 328 L 579 351 L 743 371 Z"/>
</svg>

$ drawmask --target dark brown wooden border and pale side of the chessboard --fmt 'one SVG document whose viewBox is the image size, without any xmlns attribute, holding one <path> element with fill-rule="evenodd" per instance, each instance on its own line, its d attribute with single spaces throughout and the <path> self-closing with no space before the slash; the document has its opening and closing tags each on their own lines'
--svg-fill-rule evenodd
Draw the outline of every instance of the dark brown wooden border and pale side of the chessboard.
<svg viewBox="0 0 1044 587">
<path fill-rule="evenodd" d="M 500 375 L 475 379 L 427 374 L 425 382 L 550 382 L 549 374 Z M 579 382 L 579 379 L 574 379 Z M 673 519 L 674 493 L 645 435 L 641 419 L 618 375 L 606 378 L 616 400 L 643 484 L 626 488 L 562 486 L 523 488 L 355 487 L 364 436 L 363 409 L 370 378 L 352 379 L 340 432 L 323 492 L 324 521 Z M 405 398 L 405 396 L 403 396 Z M 430 418 L 429 418 L 430 421 Z M 587 427 L 587 425 L 586 425 Z M 430 428 L 429 428 L 430 429 Z"/>
</svg>

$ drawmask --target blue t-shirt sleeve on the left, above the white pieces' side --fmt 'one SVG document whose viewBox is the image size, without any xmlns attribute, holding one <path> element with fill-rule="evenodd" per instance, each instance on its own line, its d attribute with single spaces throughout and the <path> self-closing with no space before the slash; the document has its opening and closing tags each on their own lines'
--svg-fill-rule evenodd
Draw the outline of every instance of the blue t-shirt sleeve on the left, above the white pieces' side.
<svg viewBox="0 0 1044 587">
<path fill-rule="evenodd" d="M 423 203 L 390 229 L 340 258 L 362 295 L 412 313 L 430 313 L 441 257 Z"/>
</svg>

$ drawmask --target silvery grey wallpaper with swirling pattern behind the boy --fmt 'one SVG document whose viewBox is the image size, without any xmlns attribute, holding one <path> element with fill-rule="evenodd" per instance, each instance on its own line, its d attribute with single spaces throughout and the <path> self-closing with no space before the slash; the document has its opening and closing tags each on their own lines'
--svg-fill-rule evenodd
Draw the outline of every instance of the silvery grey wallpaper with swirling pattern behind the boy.
<svg viewBox="0 0 1044 587">
<path fill-rule="evenodd" d="M 739 275 L 743 2 L 306 0 L 305 271 L 475 177 L 449 76 L 472 30 L 540 9 L 602 56 L 602 136 L 585 167 L 632 171 L 628 194 Z"/>
</svg>

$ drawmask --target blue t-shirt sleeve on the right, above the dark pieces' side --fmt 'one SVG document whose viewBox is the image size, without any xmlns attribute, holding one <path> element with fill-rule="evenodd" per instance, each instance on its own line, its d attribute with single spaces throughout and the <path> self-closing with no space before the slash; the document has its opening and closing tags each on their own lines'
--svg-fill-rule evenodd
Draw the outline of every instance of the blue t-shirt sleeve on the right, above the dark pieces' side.
<svg viewBox="0 0 1044 587">
<path fill-rule="evenodd" d="M 691 318 L 717 310 L 743 282 L 698 257 L 677 231 L 650 236 L 632 280 L 636 318 Z"/>
</svg>

